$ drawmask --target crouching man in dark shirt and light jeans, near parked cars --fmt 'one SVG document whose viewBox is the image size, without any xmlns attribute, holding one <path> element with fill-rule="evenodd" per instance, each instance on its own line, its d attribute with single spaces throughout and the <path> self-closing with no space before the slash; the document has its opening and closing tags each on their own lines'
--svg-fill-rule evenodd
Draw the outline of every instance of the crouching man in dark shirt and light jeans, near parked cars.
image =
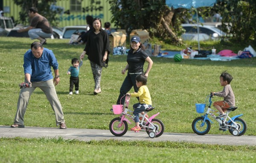
<svg viewBox="0 0 256 163">
<path fill-rule="evenodd" d="M 39 39 L 41 43 L 46 44 L 45 38 L 52 36 L 52 27 L 48 20 L 42 15 L 38 14 L 35 7 L 29 8 L 29 18 L 31 19 L 30 25 L 27 28 L 22 28 L 17 32 L 27 32 L 30 39 Z"/>
</svg>

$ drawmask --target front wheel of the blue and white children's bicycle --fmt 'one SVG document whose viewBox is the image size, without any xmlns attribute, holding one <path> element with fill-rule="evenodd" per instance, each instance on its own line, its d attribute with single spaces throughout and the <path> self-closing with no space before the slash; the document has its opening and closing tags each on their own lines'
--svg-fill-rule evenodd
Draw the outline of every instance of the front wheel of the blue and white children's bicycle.
<svg viewBox="0 0 256 163">
<path fill-rule="evenodd" d="M 194 121 L 192 122 L 192 129 L 197 135 L 205 135 L 211 129 L 211 124 L 208 120 L 205 121 L 204 126 L 201 126 L 203 120 L 203 117 L 198 117 L 195 118 Z"/>
</svg>

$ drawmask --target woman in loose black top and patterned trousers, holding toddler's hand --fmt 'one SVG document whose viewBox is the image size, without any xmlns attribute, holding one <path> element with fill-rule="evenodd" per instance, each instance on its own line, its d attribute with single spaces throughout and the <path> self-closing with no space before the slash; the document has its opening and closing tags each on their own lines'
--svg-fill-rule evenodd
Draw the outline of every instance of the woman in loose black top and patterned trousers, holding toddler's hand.
<svg viewBox="0 0 256 163">
<path fill-rule="evenodd" d="M 93 79 L 95 82 L 94 94 L 101 93 L 100 82 L 102 67 L 108 67 L 108 57 L 110 53 L 110 45 L 108 34 L 102 29 L 100 18 L 93 19 L 93 31 L 88 34 L 88 40 L 81 53 L 80 58 L 84 58 L 84 54 L 88 55 L 91 69 L 93 72 Z"/>
</svg>

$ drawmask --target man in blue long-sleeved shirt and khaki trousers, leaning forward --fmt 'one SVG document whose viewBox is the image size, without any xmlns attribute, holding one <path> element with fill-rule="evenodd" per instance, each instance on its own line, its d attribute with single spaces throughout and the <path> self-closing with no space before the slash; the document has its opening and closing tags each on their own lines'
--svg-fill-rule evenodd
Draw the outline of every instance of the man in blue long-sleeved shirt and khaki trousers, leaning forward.
<svg viewBox="0 0 256 163">
<path fill-rule="evenodd" d="M 52 110 L 55 112 L 56 126 L 60 125 L 60 129 L 67 129 L 61 103 L 55 90 L 55 85 L 60 82 L 58 73 L 58 62 L 54 53 L 43 48 L 41 42 L 33 42 L 31 50 L 24 54 L 24 73 L 25 86 L 20 90 L 20 96 L 17 102 L 17 112 L 14 118 L 12 128 L 24 128 L 24 115 L 28 105 L 28 101 L 35 88 L 40 88 L 49 100 Z M 55 78 L 52 77 L 53 67 Z M 53 79 L 53 80 L 52 80 Z"/>
</svg>

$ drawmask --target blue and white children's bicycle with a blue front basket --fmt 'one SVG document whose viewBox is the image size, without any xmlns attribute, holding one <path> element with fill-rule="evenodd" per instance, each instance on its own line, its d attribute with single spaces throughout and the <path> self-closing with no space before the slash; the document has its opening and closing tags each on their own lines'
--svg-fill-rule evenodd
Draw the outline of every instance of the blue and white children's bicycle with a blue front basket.
<svg viewBox="0 0 256 163">
<path fill-rule="evenodd" d="M 209 98 L 209 105 L 208 105 L 208 109 L 206 109 L 208 98 Z M 208 115 L 210 115 L 213 119 L 215 119 L 219 123 L 220 130 L 222 130 L 222 131 L 229 130 L 229 132 L 234 136 L 244 135 L 244 133 L 247 130 L 247 124 L 243 119 L 239 118 L 243 114 L 233 116 L 232 118 L 230 118 L 228 116 L 229 113 L 236 110 L 237 107 L 228 108 L 227 113 L 226 113 L 227 117 L 221 118 L 221 119 L 216 119 L 216 116 L 213 114 L 213 112 L 218 113 L 218 114 L 220 112 L 211 109 L 212 98 L 213 98 L 212 93 L 210 93 L 210 95 L 208 95 L 205 99 L 206 104 L 196 104 L 196 111 L 198 113 L 204 113 L 205 111 L 206 111 L 206 113 L 204 115 L 202 115 L 201 117 L 194 119 L 194 121 L 192 122 L 193 131 L 198 135 L 207 134 L 209 132 L 209 130 L 211 129 L 211 123 L 213 124 L 213 122 L 208 118 Z"/>
</svg>

